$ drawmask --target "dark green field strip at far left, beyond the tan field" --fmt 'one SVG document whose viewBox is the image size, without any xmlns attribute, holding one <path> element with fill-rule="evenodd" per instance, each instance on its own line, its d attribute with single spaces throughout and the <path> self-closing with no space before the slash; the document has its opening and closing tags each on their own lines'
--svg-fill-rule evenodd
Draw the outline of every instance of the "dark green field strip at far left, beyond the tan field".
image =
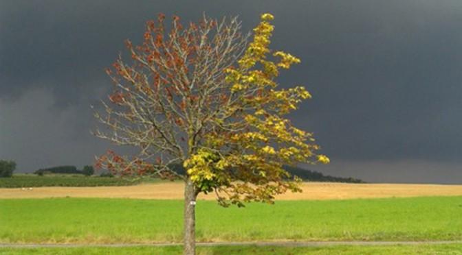
<svg viewBox="0 0 462 255">
<path fill-rule="evenodd" d="M 0 188 L 25 188 L 41 186 L 128 186 L 141 180 L 84 176 L 72 174 L 32 175 L 19 174 L 12 178 L 0 178 Z"/>
</svg>

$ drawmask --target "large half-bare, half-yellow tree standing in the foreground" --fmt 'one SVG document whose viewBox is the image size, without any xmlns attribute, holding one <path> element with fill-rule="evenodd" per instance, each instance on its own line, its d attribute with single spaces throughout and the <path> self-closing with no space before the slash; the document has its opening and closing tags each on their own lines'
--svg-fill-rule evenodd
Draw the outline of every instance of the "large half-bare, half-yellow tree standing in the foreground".
<svg viewBox="0 0 462 255">
<path fill-rule="evenodd" d="M 195 254 L 195 200 L 214 192 L 222 206 L 272 203 L 275 195 L 300 191 L 283 165 L 329 162 L 316 154 L 311 133 L 285 115 L 311 95 L 297 86 L 278 89 L 275 78 L 300 60 L 269 49 L 273 19 L 263 14 L 250 34 L 234 19 L 206 16 L 182 27 L 164 15 L 148 21 L 144 41 L 126 41 L 132 62 L 120 56 L 107 69 L 115 89 L 96 118 L 109 132 L 96 136 L 137 147 L 129 158 L 108 151 L 97 167 L 119 175 L 181 178 L 184 189 L 184 254 Z M 182 164 L 186 174 L 169 166 Z"/>
</svg>

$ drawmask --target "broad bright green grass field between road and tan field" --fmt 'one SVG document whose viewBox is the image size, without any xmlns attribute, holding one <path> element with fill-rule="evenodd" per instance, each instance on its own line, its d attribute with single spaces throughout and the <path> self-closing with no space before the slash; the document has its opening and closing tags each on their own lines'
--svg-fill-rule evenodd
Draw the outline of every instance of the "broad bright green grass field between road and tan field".
<svg viewBox="0 0 462 255">
<path fill-rule="evenodd" d="M 183 202 L 3 199 L 0 243 L 181 241 Z M 462 239 L 462 197 L 197 204 L 197 241 L 429 241 Z"/>
</svg>

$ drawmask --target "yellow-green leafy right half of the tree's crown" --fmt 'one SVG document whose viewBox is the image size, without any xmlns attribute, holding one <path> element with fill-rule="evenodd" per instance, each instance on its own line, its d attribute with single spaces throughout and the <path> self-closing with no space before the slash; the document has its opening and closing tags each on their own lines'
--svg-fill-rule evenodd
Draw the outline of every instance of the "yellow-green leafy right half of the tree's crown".
<svg viewBox="0 0 462 255">
<path fill-rule="evenodd" d="M 303 86 L 277 88 L 274 80 L 280 70 L 300 63 L 300 59 L 269 48 L 273 19 L 272 14 L 261 16 L 239 66 L 225 70 L 232 104 L 221 119 L 214 119 L 219 127 L 207 134 L 202 147 L 184 162 L 200 191 L 225 191 L 233 204 L 271 202 L 274 195 L 299 191 L 299 179 L 287 181 L 290 175 L 283 165 L 330 161 L 316 154 L 320 147 L 310 132 L 294 127 L 284 117 L 311 95 Z M 223 199 L 219 197 L 219 202 Z"/>
</svg>

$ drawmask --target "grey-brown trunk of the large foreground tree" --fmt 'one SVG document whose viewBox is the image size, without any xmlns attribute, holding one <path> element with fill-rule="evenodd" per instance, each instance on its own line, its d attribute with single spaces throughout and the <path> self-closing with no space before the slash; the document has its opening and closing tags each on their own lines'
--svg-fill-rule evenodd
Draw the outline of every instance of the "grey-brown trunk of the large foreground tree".
<svg viewBox="0 0 462 255">
<path fill-rule="evenodd" d="M 196 197 L 194 183 L 188 178 L 184 187 L 184 255 L 196 254 Z"/>
</svg>

